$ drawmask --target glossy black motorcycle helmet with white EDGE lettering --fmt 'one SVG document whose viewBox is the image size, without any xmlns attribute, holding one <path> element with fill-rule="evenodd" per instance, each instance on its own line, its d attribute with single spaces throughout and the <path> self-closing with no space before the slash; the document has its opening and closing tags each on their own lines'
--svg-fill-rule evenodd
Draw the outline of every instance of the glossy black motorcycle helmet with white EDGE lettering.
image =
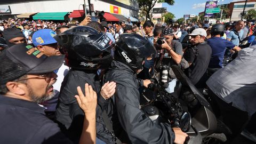
<svg viewBox="0 0 256 144">
<path fill-rule="evenodd" d="M 134 72 L 142 69 L 145 58 L 155 58 L 156 55 L 153 43 L 138 34 L 122 34 L 116 41 L 115 60 L 125 63 Z"/>
</svg>

